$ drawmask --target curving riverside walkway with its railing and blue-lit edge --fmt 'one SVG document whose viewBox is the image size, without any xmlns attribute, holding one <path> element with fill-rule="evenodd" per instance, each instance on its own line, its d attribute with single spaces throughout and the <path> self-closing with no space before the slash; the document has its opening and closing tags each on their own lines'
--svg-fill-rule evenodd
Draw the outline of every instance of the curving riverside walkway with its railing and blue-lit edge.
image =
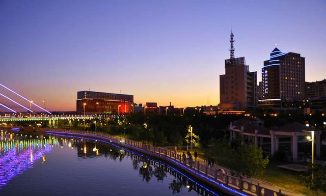
<svg viewBox="0 0 326 196">
<path fill-rule="evenodd" d="M 97 138 L 113 144 L 118 144 L 121 147 L 128 148 L 134 151 L 138 151 L 143 154 L 150 155 L 152 157 L 166 161 L 172 164 L 182 171 L 186 172 L 207 184 L 221 190 L 230 195 L 254 195 L 254 196 L 302 196 L 290 192 L 287 190 L 281 190 L 279 187 L 270 185 L 266 182 L 258 180 L 240 179 L 229 175 L 229 172 L 224 169 L 220 170 L 221 167 L 216 165 L 213 167 L 207 166 L 207 163 L 202 159 L 193 161 L 181 156 L 181 154 L 175 151 L 168 150 L 162 147 L 154 147 L 145 143 L 132 141 L 124 137 L 110 135 L 100 132 L 88 132 L 78 130 L 64 130 L 64 129 L 49 129 L 49 128 L 38 128 L 37 131 L 44 132 L 47 134 L 59 134 L 59 135 L 72 135 L 80 137 L 92 137 Z"/>
</svg>

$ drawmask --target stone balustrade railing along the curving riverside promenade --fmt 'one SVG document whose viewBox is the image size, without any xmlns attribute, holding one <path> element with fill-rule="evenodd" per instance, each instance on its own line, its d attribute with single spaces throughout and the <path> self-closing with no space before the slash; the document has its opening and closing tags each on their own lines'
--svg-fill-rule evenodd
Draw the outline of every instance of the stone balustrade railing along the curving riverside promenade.
<svg viewBox="0 0 326 196">
<path fill-rule="evenodd" d="M 65 130 L 59 128 L 38 128 L 38 131 L 58 131 L 67 134 L 86 134 L 89 136 L 100 136 L 105 137 L 107 139 L 111 139 L 116 143 L 121 143 L 121 145 L 129 145 L 131 147 L 138 147 L 143 150 L 149 151 L 151 153 L 156 153 L 161 155 L 162 158 L 170 158 L 172 161 L 181 164 L 184 169 L 191 170 L 192 172 L 197 172 L 197 175 L 202 175 L 205 178 L 209 178 L 215 181 L 216 184 L 223 184 L 227 187 L 245 193 L 247 195 L 254 196 L 293 196 L 298 195 L 297 193 L 292 193 L 290 191 L 281 190 L 272 188 L 269 186 L 261 185 L 260 183 L 250 182 L 246 179 L 241 179 L 230 174 L 226 174 L 224 170 L 220 170 L 216 167 L 209 167 L 205 163 L 201 163 L 200 161 L 194 161 L 189 158 L 183 157 L 181 154 L 178 154 L 176 151 L 168 150 L 167 148 L 155 147 L 149 144 L 145 144 L 138 141 L 133 141 L 131 139 L 126 139 L 124 137 L 111 135 L 107 133 L 101 132 L 89 132 L 89 131 L 79 131 L 79 130 Z"/>
</svg>

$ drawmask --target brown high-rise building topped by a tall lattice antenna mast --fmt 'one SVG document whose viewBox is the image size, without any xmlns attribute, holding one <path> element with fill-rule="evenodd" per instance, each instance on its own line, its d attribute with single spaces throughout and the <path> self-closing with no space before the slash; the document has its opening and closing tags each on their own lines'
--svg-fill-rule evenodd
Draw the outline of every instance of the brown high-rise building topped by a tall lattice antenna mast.
<svg viewBox="0 0 326 196">
<path fill-rule="evenodd" d="M 234 35 L 230 34 L 230 59 L 220 75 L 220 110 L 246 110 L 257 104 L 257 72 L 250 72 L 244 57 L 234 58 Z"/>
</svg>

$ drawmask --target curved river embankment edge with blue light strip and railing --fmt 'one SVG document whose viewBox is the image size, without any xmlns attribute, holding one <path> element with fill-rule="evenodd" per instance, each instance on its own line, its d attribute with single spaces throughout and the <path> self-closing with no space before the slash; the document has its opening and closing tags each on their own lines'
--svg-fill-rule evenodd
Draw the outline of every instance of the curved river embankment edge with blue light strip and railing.
<svg viewBox="0 0 326 196">
<path fill-rule="evenodd" d="M 250 188 L 248 188 L 248 183 L 244 181 L 240 181 L 240 185 L 242 186 L 246 184 L 246 187 L 239 188 L 237 186 L 234 186 L 232 183 L 227 183 L 227 181 L 220 182 L 221 180 L 218 181 L 218 178 L 214 179 L 214 176 L 209 175 L 207 173 L 207 167 L 206 167 L 206 174 L 200 170 L 202 165 L 189 165 L 182 163 L 182 160 L 178 160 L 179 155 L 173 155 L 171 154 L 170 151 L 170 157 L 167 155 L 167 150 L 166 149 L 161 149 L 158 147 L 151 147 L 149 145 L 145 145 L 143 143 L 135 142 L 135 141 L 130 141 L 129 139 L 125 139 L 122 137 L 117 137 L 114 135 L 108 135 L 104 133 L 94 133 L 94 132 L 84 132 L 84 131 L 65 131 L 65 130 L 50 130 L 50 129 L 39 129 L 39 132 L 44 132 L 44 133 L 52 133 L 52 134 L 62 134 L 62 136 L 67 136 L 67 135 L 75 135 L 75 136 L 85 136 L 89 138 L 95 138 L 95 139 L 103 139 L 106 142 L 110 142 L 111 144 L 118 145 L 120 147 L 124 147 L 133 151 L 140 152 L 144 155 L 148 155 L 150 157 L 154 157 L 158 160 L 165 161 L 166 163 L 176 167 L 177 169 L 181 170 L 182 172 L 186 173 L 189 176 L 192 176 L 195 179 L 198 179 L 199 181 L 202 181 L 209 186 L 218 189 L 219 191 L 226 193 L 228 195 L 236 196 L 236 195 L 241 195 L 241 196 L 288 196 L 290 194 L 284 194 L 281 191 L 273 191 L 273 190 L 265 190 L 266 188 L 259 187 L 258 189 L 255 189 L 255 191 L 249 191 L 252 190 L 251 187 L 257 185 L 249 185 Z M 154 148 L 154 149 L 153 149 Z M 152 150 L 153 149 L 153 150 Z M 157 152 L 158 149 L 158 152 Z M 164 151 L 164 152 L 163 152 Z M 169 153 L 168 153 L 169 154 Z M 197 166 L 197 167 L 196 167 Z M 216 173 L 216 172 L 215 172 Z M 218 174 L 216 173 L 215 176 L 217 177 Z M 226 177 L 226 179 L 229 179 L 229 182 L 232 182 L 232 179 L 230 180 L 230 177 Z M 239 181 L 236 182 L 237 185 L 239 184 Z M 271 194 L 270 194 L 271 193 Z"/>
</svg>

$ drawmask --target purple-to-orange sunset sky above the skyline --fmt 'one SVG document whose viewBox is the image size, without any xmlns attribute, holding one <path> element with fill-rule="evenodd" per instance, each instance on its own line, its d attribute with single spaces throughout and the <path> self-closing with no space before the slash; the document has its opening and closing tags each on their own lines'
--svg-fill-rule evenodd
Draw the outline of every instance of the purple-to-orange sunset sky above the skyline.
<svg viewBox="0 0 326 196">
<path fill-rule="evenodd" d="M 77 91 L 88 89 L 121 90 L 136 103 L 217 105 L 231 28 L 235 57 L 258 81 L 276 43 L 306 58 L 307 81 L 326 78 L 324 0 L 3 0 L 0 83 L 50 110 L 75 110 Z"/>
</svg>

